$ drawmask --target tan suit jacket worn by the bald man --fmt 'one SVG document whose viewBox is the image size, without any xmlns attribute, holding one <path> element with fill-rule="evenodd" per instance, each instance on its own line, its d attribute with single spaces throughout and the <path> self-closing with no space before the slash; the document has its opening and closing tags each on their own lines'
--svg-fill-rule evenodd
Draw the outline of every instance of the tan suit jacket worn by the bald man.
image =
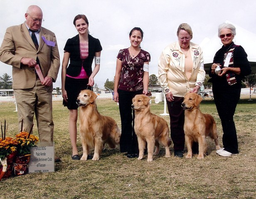
<svg viewBox="0 0 256 199">
<path fill-rule="evenodd" d="M 42 36 L 48 41 L 54 41 L 55 46 L 48 46 L 42 39 Z M 23 57 L 34 58 L 34 60 L 38 57 L 43 76 L 52 77 L 53 82 L 56 81 L 60 60 L 57 41 L 53 32 L 43 27 L 40 28 L 39 48 L 37 50 L 25 22 L 7 28 L 0 47 L 0 61 L 12 65 L 13 89 L 27 89 L 35 85 L 35 69 L 22 65 L 20 60 Z M 46 89 L 49 92 L 52 91 L 52 85 L 46 87 Z"/>
</svg>

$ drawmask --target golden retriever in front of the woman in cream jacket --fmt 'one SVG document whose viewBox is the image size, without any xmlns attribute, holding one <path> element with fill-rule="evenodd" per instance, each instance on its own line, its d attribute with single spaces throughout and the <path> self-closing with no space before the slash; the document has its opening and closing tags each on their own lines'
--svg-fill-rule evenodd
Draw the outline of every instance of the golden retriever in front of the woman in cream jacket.
<svg viewBox="0 0 256 199">
<path fill-rule="evenodd" d="M 214 139 L 216 150 L 220 149 L 217 125 L 210 114 L 204 114 L 199 109 L 202 97 L 196 93 L 187 93 L 181 106 L 185 110 L 185 142 L 187 145 L 186 158 L 192 158 L 192 142 L 198 142 L 199 154 L 197 159 L 204 159 L 207 150 L 206 137 Z"/>
</svg>

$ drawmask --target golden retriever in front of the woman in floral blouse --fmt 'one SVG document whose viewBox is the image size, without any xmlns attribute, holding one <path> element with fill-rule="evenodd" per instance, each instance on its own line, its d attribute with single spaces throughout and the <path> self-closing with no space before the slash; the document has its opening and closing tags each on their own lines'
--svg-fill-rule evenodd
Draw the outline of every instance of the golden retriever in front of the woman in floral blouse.
<svg viewBox="0 0 256 199">
<path fill-rule="evenodd" d="M 165 146 L 165 157 L 169 158 L 169 146 L 171 144 L 168 124 L 165 119 L 150 113 L 149 100 L 150 98 L 145 95 L 135 95 L 132 104 L 132 108 L 135 110 L 134 130 L 138 137 L 139 145 L 138 160 L 143 158 L 143 152 L 147 142 L 148 162 L 153 160 L 153 155 L 158 155 L 159 142 Z"/>
</svg>

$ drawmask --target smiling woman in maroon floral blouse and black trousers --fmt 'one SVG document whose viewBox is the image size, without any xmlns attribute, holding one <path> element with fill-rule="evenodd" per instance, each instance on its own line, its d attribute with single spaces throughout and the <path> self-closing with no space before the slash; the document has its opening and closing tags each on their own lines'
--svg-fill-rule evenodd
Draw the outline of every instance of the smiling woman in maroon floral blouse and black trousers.
<svg viewBox="0 0 256 199">
<path fill-rule="evenodd" d="M 148 63 L 150 54 L 140 49 L 143 31 L 135 27 L 129 34 L 130 47 L 119 51 L 114 79 L 114 100 L 119 102 L 121 116 L 120 151 L 128 158 L 138 156 L 138 140 L 134 132 L 132 99 L 138 94 L 148 93 Z"/>
</svg>

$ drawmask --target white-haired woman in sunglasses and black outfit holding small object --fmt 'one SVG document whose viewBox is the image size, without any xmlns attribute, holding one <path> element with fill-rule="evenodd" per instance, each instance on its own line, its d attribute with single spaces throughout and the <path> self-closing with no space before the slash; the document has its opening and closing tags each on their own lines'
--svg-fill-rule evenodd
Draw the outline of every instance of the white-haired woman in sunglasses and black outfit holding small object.
<svg viewBox="0 0 256 199">
<path fill-rule="evenodd" d="M 212 82 L 214 102 L 223 129 L 223 148 L 217 150 L 217 153 L 230 156 L 239 153 L 233 116 L 240 98 L 241 81 L 251 73 L 251 67 L 243 47 L 233 42 L 236 36 L 234 25 L 220 24 L 218 36 L 223 46 L 214 56 L 209 81 Z"/>
</svg>

